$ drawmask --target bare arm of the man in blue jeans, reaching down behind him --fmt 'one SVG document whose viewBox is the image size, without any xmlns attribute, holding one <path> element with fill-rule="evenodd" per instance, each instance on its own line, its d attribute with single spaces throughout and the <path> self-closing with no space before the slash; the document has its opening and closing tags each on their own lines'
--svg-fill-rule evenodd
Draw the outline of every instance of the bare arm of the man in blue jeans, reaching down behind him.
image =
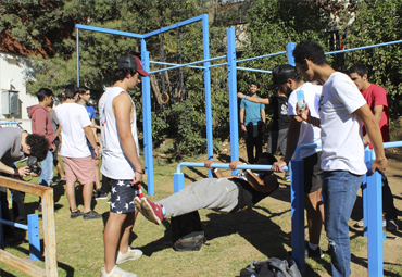
<svg viewBox="0 0 402 277">
<path fill-rule="evenodd" d="M 382 137 L 377 118 L 372 113 L 367 104 L 362 105 L 353 112 L 361 121 L 364 122 L 369 140 L 373 143 L 376 160 L 373 162 L 372 173 L 378 168 L 384 172 L 387 168 L 387 158 L 382 147 Z"/>
</svg>

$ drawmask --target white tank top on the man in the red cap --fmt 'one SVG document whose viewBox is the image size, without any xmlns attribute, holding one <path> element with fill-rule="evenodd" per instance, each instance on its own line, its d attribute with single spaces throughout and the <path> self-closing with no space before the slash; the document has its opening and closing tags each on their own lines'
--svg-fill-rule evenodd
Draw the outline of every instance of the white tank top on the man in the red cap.
<svg viewBox="0 0 402 277">
<path fill-rule="evenodd" d="M 106 88 L 99 100 L 99 115 L 103 143 L 101 173 L 109 178 L 118 180 L 133 179 L 136 171 L 123 153 L 117 135 L 116 118 L 114 117 L 112 109 L 113 99 L 122 92 L 127 93 L 120 87 Z M 134 118 L 130 122 L 131 134 L 139 156 L 136 106 L 133 100 L 131 103 L 134 106 Z"/>
</svg>

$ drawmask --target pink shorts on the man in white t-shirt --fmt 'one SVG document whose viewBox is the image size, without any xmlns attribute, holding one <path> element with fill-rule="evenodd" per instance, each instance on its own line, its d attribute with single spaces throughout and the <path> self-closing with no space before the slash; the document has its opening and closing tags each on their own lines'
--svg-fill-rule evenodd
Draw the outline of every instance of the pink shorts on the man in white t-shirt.
<svg viewBox="0 0 402 277">
<path fill-rule="evenodd" d="M 67 182 L 79 180 L 81 185 L 95 181 L 95 165 L 90 155 L 85 158 L 61 156 Z"/>
</svg>

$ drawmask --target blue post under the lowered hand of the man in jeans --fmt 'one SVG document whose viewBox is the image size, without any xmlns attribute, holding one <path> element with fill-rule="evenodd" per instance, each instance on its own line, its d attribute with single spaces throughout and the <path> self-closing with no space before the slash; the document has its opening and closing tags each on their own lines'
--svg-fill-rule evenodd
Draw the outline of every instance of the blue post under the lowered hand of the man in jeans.
<svg viewBox="0 0 402 277">
<path fill-rule="evenodd" d="M 367 163 L 367 244 L 368 244 L 368 276 L 384 276 L 382 259 L 382 188 L 381 175 L 375 172 L 373 175 L 372 162 Z M 365 223 L 366 224 L 366 223 Z"/>
</svg>

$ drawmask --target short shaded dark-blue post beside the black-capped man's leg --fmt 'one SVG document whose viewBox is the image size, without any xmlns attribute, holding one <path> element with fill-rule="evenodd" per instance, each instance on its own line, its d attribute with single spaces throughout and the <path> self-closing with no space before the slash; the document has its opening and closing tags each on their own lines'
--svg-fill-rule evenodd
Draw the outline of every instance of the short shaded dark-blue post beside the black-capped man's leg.
<svg viewBox="0 0 402 277">
<path fill-rule="evenodd" d="M 291 171 L 291 222 L 292 222 L 292 259 L 305 276 L 304 252 L 304 164 L 299 158 L 290 162 Z"/>
</svg>

